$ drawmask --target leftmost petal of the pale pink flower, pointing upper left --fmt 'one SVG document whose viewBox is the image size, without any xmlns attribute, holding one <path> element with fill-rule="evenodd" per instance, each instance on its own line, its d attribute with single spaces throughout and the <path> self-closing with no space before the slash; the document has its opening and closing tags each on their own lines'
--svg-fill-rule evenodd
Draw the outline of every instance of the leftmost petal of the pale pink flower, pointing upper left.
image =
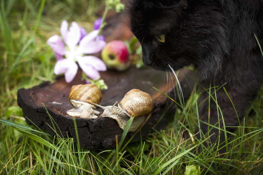
<svg viewBox="0 0 263 175">
<path fill-rule="evenodd" d="M 47 40 L 47 44 L 52 48 L 55 53 L 65 55 L 66 48 L 62 39 L 58 35 L 53 35 Z"/>
</svg>

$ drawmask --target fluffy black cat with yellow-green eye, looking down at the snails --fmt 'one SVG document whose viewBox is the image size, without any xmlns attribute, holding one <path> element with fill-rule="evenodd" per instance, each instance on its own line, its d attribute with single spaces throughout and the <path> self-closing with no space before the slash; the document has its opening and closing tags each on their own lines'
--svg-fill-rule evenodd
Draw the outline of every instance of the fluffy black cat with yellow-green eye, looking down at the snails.
<svg viewBox="0 0 263 175">
<path fill-rule="evenodd" d="M 200 129 L 223 128 L 223 115 L 226 130 L 232 132 L 230 126 L 242 121 L 263 82 L 263 1 L 133 0 L 129 14 L 144 64 L 166 71 L 169 65 L 177 70 L 193 64 L 199 90 L 217 87 L 210 104 L 208 92 L 200 96 L 199 118 L 211 125 L 202 122 Z M 225 141 L 224 131 L 212 128 L 213 133 L 211 143 L 218 136 L 220 143 Z"/>
</svg>

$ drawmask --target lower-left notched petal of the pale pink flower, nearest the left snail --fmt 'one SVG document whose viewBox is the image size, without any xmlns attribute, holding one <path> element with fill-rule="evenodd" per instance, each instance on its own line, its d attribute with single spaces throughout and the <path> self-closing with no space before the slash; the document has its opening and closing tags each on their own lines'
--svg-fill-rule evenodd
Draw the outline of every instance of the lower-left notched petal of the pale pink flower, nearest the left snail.
<svg viewBox="0 0 263 175">
<path fill-rule="evenodd" d="M 77 74 L 78 65 L 70 59 L 58 60 L 55 67 L 54 73 L 56 75 L 65 74 L 65 81 L 70 83 Z"/>
</svg>

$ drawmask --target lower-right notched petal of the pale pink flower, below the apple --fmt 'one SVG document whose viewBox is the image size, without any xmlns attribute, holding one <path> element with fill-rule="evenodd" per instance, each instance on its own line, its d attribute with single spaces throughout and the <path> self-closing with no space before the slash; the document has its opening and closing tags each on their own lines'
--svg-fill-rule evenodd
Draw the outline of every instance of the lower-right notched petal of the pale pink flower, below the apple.
<svg viewBox="0 0 263 175">
<path fill-rule="evenodd" d="M 76 57 L 79 67 L 91 79 L 97 78 L 100 74 L 98 71 L 106 71 L 105 63 L 95 56 Z"/>
</svg>

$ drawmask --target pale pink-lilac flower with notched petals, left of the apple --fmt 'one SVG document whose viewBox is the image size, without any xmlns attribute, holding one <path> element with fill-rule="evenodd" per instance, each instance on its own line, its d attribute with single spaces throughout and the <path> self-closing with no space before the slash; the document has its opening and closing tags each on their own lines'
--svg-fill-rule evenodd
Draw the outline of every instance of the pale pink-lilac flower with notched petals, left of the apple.
<svg viewBox="0 0 263 175">
<path fill-rule="evenodd" d="M 97 39 L 98 30 L 83 34 L 81 27 L 76 22 L 72 22 L 68 29 L 68 22 L 64 20 L 60 27 L 60 33 L 63 40 L 60 36 L 53 35 L 47 41 L 58 60 L 54 68 L 56 75 L 64 73 L 66 82 L 71 82 L 77 74 L 78 65 L 76 62 L 91 79 L 100 75 L 98 71 L 107 69 L 101 59 L 88 55 L 101 51 L 106 44 L 105 41 Z M 81 38 L 82 36 L 84 37 Z"/>
</svg>

